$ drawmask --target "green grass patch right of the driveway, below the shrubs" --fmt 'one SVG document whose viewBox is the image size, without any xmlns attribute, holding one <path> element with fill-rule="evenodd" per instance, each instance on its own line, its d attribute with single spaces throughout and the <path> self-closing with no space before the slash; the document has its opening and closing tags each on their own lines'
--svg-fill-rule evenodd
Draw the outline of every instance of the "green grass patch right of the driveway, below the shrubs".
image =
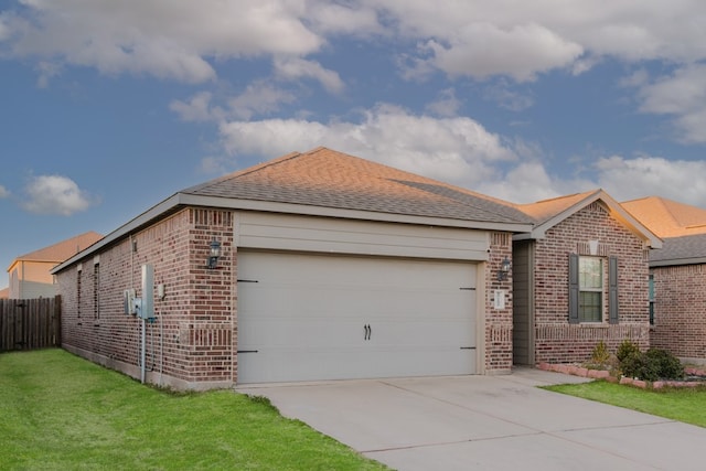
<svg viewBox="0 0 706 471">
<path fill-rule="evenodd" d="M 545 389 L 706 427 L 705 388 L 651 390 L 596 381 L 584 384 L 547 386 Z"/>
</svg>

